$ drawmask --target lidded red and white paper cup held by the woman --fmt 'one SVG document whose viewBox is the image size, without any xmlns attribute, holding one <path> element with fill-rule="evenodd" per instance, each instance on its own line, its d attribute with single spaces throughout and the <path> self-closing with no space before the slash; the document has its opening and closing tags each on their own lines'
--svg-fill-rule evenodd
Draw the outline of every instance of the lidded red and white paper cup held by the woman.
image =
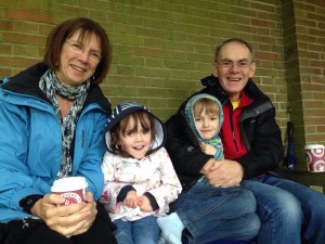
<svg viewBox="0 0 325 244">
<path fill-rule="evenodd" d="M 65 197 L 62 205 L 70 205 L 86 202 L 87 187 L 84 177 L 67 177 L 55 180 L 51 191 Z"/>
</svg>

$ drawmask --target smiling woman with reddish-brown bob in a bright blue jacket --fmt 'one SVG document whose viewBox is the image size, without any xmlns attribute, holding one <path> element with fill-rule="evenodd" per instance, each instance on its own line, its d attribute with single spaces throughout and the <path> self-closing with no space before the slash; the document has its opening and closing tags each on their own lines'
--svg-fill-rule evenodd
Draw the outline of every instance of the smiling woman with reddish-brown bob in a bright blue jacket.
<svg viewBox="0 0 325 244">
<path fill-rule="evenodd" d="M 103 191 L 102 131 L 110 104 L 99 84 L 112 47 L 88 18 L 68 20 L 49 35 L 43 62 L 0 89 L 0 242 L 116 243 L 109 217 L 95 201 Z M 87 202 L 57 206 L 55 179 L 83 176 Z"/>
</svg>

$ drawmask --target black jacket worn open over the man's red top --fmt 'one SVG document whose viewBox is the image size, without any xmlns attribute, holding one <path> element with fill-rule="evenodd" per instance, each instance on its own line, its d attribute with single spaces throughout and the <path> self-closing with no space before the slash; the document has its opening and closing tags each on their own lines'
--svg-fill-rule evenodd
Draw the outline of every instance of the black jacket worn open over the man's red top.
<svg viewBox="0 0 325 244">
<path fill-rule="evenodd" d="M 206 88 L 197 93 L 214 95 L 221 103 L 227 100 L 227 94 L 221 88 L 218 78 L 208 76 L 202 79 L 202 84 Z M 240 133 L 248 153 L 234 159 L 243 165 L 244 178 L 247 179 L 275 169 L 283 159 L 283 143 L 280 127 L 275 121 L 275 108 L 270 99 L 251 79 L 244 91 L 253 101 L 244 108 L 240 116 Z M 212 158 L 193 144 L 196 140 L 183 116 L 186 102 L 166 123 L 166 149 L 184 189 L 196 182 L 202 176 L 202 167 Z"/>
</svg>

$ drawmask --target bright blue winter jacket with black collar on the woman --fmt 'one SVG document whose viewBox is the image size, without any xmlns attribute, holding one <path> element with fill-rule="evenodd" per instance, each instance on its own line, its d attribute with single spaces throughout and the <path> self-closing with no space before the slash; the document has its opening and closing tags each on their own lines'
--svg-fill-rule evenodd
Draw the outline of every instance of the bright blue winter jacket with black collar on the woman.
<svg viewBox="0 0 325 244">
<path fill-rule="evenodd" d="M 0 88 L 0 222 L 30 217 L 20 201 L 49 193 L 60 170 L 61 125 L 38 85 L 47 69 L 39 63 Z M 108 115 L 109 102 L 100 87 L 92 85 L 72 146 L 72 175 L 87 178 L 88 191 L 95 200 L 103 191 L 103 129 Z"/>
</svg>

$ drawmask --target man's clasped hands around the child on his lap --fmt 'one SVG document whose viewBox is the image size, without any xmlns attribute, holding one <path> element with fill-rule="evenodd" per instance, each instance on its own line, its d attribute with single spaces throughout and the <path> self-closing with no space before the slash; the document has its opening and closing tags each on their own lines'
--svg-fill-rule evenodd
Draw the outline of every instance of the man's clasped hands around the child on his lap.
<svg viewBox="0 0 325 244">
<path fill-rule="evenodd" d="M 209 171 L 204 175 L 211 185 L 221 188 L 237 187 L 243 180 L 244 169 L 236 160 L 214 160 L 213 164 L 210 164 Z"/>
</svg>

